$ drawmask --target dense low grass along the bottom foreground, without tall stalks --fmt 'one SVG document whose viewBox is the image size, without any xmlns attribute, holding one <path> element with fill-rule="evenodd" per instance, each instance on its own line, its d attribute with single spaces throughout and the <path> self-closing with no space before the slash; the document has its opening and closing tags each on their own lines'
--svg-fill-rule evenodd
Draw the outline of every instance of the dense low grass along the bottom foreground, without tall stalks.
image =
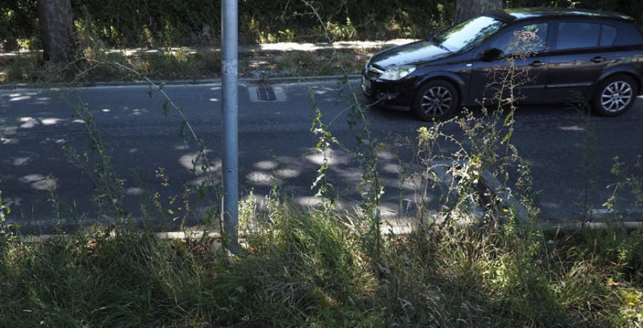
<svg viewBox="0 0 643 328">
<path fill-rule="evenodd" d="M 238 256 L 100 231 L 0 243 L 5 327 L 637 327 L 643 231 L 443 227 L 389 236 L 271 200 Z"/>
</svg>

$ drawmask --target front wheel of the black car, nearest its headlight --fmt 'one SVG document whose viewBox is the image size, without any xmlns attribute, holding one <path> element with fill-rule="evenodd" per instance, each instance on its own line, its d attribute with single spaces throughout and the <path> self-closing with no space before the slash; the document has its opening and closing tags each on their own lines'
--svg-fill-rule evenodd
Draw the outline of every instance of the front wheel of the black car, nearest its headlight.
<svg viewBox="0 0 643 328">
<path fill-rule="evenodd" d="M 423 121 L 449 118 L 459 106 L 456 88 L 444 80 L 432 80 L 417 91 L 411 110 Z"/>
</svg>

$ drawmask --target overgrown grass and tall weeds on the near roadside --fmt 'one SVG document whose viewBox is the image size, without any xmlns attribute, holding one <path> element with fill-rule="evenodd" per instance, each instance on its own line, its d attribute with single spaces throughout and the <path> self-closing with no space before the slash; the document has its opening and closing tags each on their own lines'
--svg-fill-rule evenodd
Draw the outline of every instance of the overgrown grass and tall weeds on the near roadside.
<svg viewBox="0 0 643 328">
<path fill-rule="evenodd" d="M 344 57 L 328 56 L 342 75 L 350 73 Z M 96 55 L 95 61 L 94 69 L 149 78 L 149 66 L 119 55 Z M 299 67 L 308 59 L 292 61 Z M 415 213 L 411 232 L 396 232 L 393 222 L 382 219 L 384 182 L 377 164 L 390 146 L 372 135 L 368 108 L 349 93 L 341 96 L 354 100 L 347 113 L 355 143 L 339 145 L 333 126 L 314 107 L 311 133 L 319 142 L 311 147 L 322 155 L 342 149 L 356 159 L 359 210 L 335 205 L 342 195 L 325 174 L 324 161 L 311 182 L 321 200 L 317 207 L 294 205 L 277 187 L 263 200 L 265 210 L 253 195 L 241 201 L 243 247 L 236 255 L 226 252 L 219 237 L 214 178 L 198 188 L 214 204 L 204 218 L 204 235 L 190 235 L 184 227 L 184 237 L 171 239 L 149 225 L 135 226 L 121 204 L 122 180 L 112 168 L 109 145 L 102 143 L 89 108 L 76 105 L 90 147 L 66 154 L 96 185 L 99 223 L 85 227 L 79 220 L 76 232 L 32 238 L 7 225 L 10 209 L 0 208 L 0 326 L 641 327 L 643 227 L 628 229 L 618 220 L 604 229 L 537 225 L 537 190 L 528 163 L 512 145 L 514 88 L 523 72 L 509 67 L 497 72 L 497 108 L 464 111 L 396 140 L 416 154 L 412 163 L 400 163 L 400 183 L 417 191 L 409 206 Z M 305 74 L 299 69 L 295 74 Z M 39 78 L 56 81 L 55 73 Z M 163 93 L 149 82 L 150 92 Z M 169 98 L 163 109 L 181 116 Z M 447 125 L 462 130 L 464 140 L 444 133 Z M 177 128 L 186 143 L 200 140 L 189 122 Z M 206 145 L 196 143 L 201 152 L 194 172 L 207 177 L 212 166 Z M 643 168 L 616 160 L 613 171 L 614 198 L 607 207 L 618 217 L 623 193 L 643 205 Z M 484 172 L 497 184 L 485 183 Z M 425 208 L 424 195 L 435 189 L 442 190 L 442 207 Z M 145 211 L 144 222 L 167 212 L 161 203 L 153 205 L 156 212 Z"/>
</svg>

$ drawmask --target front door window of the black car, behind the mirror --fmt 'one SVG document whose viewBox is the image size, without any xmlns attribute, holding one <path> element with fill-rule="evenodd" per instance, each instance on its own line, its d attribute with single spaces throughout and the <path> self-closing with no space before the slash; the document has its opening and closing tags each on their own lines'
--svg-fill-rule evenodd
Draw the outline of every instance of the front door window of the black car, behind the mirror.
<svg viewBox="0 0 643 328">
<path fill-rule="evenodd" d="M 514 26 L 498 36 L 491 48 L 498 48 L 507 55 L 542 52 L 547 48 L 547 31 L 547 23 Z"/>
</svg>

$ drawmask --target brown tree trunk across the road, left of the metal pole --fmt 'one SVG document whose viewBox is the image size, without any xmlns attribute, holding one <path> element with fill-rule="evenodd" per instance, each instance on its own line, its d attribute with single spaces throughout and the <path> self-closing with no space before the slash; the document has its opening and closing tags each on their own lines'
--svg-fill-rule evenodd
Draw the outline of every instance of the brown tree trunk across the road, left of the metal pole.
<svg viewBox="0 0 643 328">
<path fill-rule="evenodd" d="M 79 54 L 71 0 L 38 0 L 43 61 L 70 63 Z"/>
</svg>

